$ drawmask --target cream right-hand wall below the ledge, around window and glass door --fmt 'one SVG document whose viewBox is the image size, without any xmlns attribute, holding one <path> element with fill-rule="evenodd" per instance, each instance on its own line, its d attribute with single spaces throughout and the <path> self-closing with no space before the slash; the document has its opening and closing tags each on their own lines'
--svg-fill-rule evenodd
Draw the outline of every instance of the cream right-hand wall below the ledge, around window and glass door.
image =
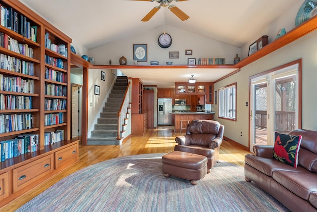
<svg viewBox="0 0 317 212">
<path fill-rule="evenodd" d="M 241 71 L 214 84 L 214 91 L 237 82 L 237 121 L 218 118 L 218 105 L 214 105 L 215 119 L 224 124 L 224 135 L 244 146 L 249 145 L 249 77 L 271 68 L 302 58 L 302 128 L 317 130 L 317 31 L 241 68 Z M 243 136 L 240 136 L 243 132 Z"/>
</svg>

